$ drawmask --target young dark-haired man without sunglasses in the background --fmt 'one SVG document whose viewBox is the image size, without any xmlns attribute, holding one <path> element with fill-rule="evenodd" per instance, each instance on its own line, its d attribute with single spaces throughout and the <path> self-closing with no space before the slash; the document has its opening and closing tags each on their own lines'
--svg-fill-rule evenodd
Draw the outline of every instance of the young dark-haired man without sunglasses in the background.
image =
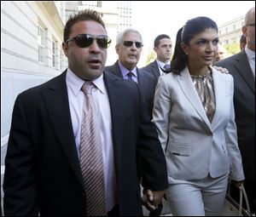
<svg viewBox="0 0 256 217">
<path fill-rule="evenodd" d="M 154 76 L 155 82 L 158 82 L 160 75 L 169 72 L 171 67 L 172 56 L 172 40 L 166 34 L 161 34 L 154 39 L 154 52 L 156 53 L 156 59 L 154 62 L 148 64 L 148 66 L 142 69 L 148 71 Z"/>
</svg>

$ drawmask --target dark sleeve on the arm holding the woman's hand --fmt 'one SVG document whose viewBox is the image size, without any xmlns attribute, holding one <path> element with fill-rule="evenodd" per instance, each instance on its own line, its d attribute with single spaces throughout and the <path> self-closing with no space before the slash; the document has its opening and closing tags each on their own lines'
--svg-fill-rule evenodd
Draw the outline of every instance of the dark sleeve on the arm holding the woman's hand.
<svg viewBox="0 0 256 217">
<path fill-rule="evenodd" d="M 142 185 L 152 191 L 163 191 L 168 186 L 166 157 L 148 112 L 141 101 L 137 152 L 143 169 Z"/>
</svg>

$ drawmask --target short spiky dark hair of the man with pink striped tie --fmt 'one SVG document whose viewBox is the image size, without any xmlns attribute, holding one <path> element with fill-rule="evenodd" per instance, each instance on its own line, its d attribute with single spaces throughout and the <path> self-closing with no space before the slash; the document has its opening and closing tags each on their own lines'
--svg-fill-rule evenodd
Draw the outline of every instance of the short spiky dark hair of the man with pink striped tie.
<svg viewBox="0 0 256 217">
<path fill-rule="evenodd" d="M 97 23 L 101 24 L 103 28 L 106 30 L 105 24 L 102 20 L 102 14 L 91 9 L 80 10 L 79 13 L 70 15 L 69 19 L 67 20 L 67 23 L 64 28 L 64 34 L 63 34 L 64 42 L 66 42 L 67 39 L 69 38 L 72 26 L 75 23 L 79 21 L 84 21 L 84 20 L 94 20 Z"/>
</svg>

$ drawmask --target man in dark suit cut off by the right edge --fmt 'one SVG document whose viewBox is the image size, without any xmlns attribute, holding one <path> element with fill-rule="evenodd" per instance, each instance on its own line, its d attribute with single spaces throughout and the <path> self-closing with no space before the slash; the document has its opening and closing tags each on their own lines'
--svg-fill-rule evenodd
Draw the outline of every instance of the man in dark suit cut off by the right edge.
<svg viewBox="0 0 256 217">
<path fill-rule="evenodd" d="M 234 77 L 234 106 L 238 144 L 245 174 L 250 207 L 255 212 L 255 7 L 247 12 L 242 32 L 246 48 L 216 65 L 227 68 Z"/>
</svg>

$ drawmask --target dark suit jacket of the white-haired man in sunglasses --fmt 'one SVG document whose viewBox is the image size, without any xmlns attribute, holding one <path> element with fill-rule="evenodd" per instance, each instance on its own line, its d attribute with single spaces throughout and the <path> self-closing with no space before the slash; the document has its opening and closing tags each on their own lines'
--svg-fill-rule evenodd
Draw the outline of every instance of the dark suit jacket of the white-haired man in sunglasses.
<svg viewBox="0 0 256 217">
<path fill-rule="evenodd" d="M 109 71 L 118 77 L 122 77 L 122 72 L 119 68 L 118 61 L 115 62 L 113 66 L 106 66 L 105 71 Z M 156 86 L 156 82 L 154 77 L 149 75 L 146 71 L 137 68 L 137 78 L 138 78 L 138 86 L 143 95 L 143 100 L 145 102 L 145 106 L 148 109 L 150 117 L 152 117 L 152 110 L 154 105 L 154 89 Z"/>
</svg>

